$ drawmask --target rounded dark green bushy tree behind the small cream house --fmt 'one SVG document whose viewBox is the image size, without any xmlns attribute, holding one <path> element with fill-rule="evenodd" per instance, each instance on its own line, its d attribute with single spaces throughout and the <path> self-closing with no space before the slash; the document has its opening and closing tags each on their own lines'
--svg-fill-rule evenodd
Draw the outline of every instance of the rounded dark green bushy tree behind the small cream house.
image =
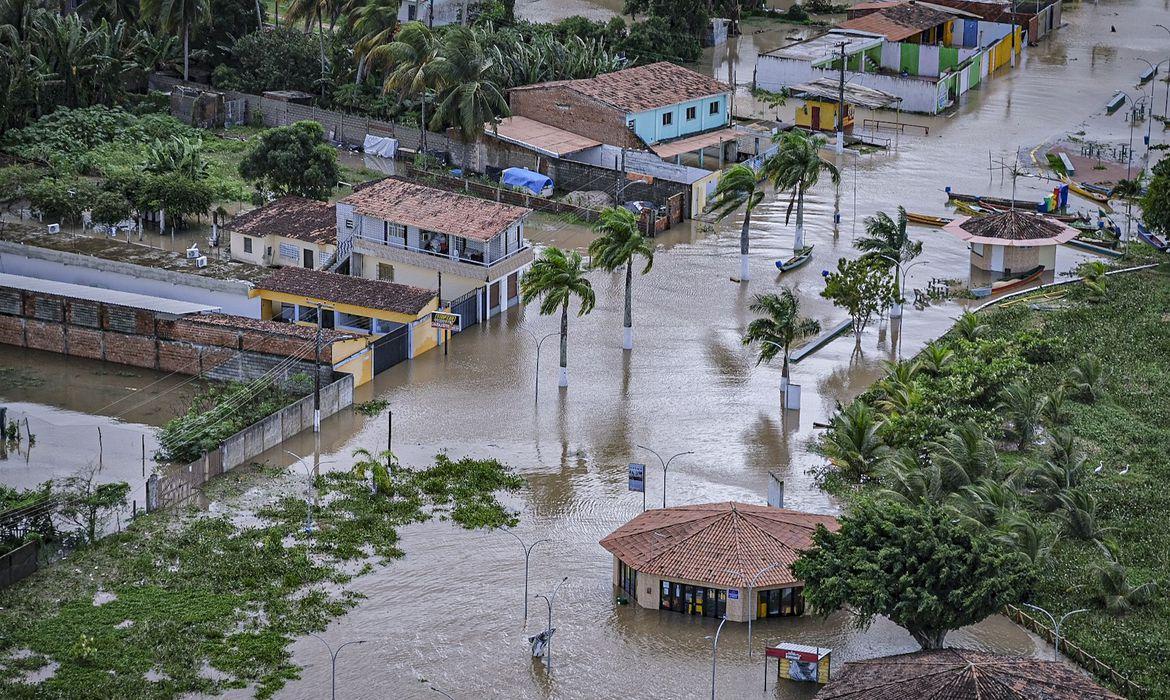
<svg viewBox="0 0 1170 700">
<path fill-rule="evenodd" d="M 280 195 L 328 199 L 337 184 L 337 151 L 317 122 L 269 129 L 240 162 L 240 174 Z"/>
</svg>

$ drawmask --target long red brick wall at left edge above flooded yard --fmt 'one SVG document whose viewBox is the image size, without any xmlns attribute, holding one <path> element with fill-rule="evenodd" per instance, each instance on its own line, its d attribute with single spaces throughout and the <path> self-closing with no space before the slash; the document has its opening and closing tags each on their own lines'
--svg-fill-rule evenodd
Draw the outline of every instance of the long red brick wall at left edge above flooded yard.
<svg viewBox="0 0 1170 700">
<path fill-rule="evenodd" d="M 254 320 L 216 318 L 161 317 L 144 309 L 0 287 L 0 343 L 239 382 L 261 377 L 296 356 L 282 376 L 312 376 L 314 341 L 300 329 L 278 324 L 257 329 Z M 323 382 L 332 380 L 331 363 L 331 345 L 323 343 Z"/>
</svg>

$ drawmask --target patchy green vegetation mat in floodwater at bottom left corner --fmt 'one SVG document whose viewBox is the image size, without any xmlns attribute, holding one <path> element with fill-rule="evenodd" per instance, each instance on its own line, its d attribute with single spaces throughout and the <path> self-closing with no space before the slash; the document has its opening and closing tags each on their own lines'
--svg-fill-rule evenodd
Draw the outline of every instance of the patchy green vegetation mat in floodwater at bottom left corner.
<svg viewBox="0 0 1170 700">
<path fill-rule="evenodd" d="M 456 462 L 436 461 L 397 471 L 391 497 L 350 474 L 318 478 L 311 534 L 298 496 L 262 508 L 256 527 L 159 513 L 0 591 L 0 696 L 152 699 L 241 687 L 271 696 L 298 677 L 292 638 L 323 630 L 360 598 L 344 590 L 347 562 L 364 562 L 364 571 L 371 555 L 383 564 L 401 557 L 398 528 L 452 507 L 490 514 L 464 527 L 515 522 L 494 495 L 523 483 L 505 466 L 462 460 L 476 467 L 463 476 L 443 466 Z M 262 475 L 227 475 L 216 487 L 233 497 Z M 95 605 L 99 591 L 113 599 Z M 49 663 L 60 665 L 50 678 L 23 682 Z"/>
</svg>

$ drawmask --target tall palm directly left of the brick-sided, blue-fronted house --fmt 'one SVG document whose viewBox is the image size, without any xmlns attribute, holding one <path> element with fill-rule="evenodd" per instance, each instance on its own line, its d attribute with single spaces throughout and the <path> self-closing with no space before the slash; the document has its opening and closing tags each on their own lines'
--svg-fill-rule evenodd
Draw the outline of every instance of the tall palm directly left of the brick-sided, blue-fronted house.
<svg viewBox="0 0 1170 700">
<path fill-rule="evenodd" d="M 495 70 L 483 46 L 468 27 L 447 29 L 439 57 L 432 66 L 442 94 L 431 128 L 459 126 L 463 136 L 463 172 L 467 172 L 472 146 L 483 135 L 486 125 L 511 114 L 508 101 L 491 77 Z"/>
</svg>

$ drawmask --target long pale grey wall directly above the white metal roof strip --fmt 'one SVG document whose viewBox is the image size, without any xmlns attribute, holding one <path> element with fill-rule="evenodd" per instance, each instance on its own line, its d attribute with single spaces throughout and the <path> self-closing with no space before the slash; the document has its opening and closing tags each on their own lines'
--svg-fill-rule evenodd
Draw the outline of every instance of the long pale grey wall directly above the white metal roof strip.
<svg viewBox="0 0 1170 700">
<path fill-rule="evenodd" d="M 117 291 L 131 291 L 219 307 L 225 314 L 260 317 L 260 303 L 248 298 L 252 284 L 164 270 L 90 255 L 0 241 L 4 272 Z"/>
</svg>

